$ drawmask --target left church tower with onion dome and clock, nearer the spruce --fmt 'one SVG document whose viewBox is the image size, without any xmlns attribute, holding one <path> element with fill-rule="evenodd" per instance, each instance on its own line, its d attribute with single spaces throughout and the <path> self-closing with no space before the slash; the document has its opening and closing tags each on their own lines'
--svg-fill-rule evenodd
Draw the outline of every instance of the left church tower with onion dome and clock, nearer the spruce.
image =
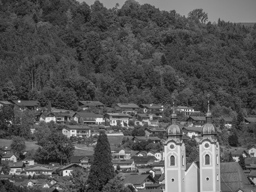
<svg viewBox="0 0 256 192">
<path fill-rule="evenodd" d="M 164 142 L 164 167 L 166 192 L 185 192 L 186 154 L 182 129 L 177 125 L 177 114 L 171 114 L 172 124 L 166 129 Z"/>
</svg>

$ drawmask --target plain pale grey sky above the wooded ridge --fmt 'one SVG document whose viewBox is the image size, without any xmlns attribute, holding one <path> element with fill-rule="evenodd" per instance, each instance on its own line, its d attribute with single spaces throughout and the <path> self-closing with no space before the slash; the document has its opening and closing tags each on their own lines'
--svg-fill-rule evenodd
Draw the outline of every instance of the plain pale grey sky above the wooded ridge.
<svg viewBox="0 0 256 192">
<path fill-rule="evenodd" d="M 95 0 L 85 1 L 88 5 Z M 119 3 L 121 8 L 126 0 L 99 0 L 107 8 L 115 7 Z M 256 22 L 256 0 L 136 0 L 139 4 L 151 4 L 159 10 L 175 10 L 187 17 L 190 11 L 202 8 L 208 13 L 208 21 L 217 22 L 218 18 L 226 22 Z"/>
</svg>

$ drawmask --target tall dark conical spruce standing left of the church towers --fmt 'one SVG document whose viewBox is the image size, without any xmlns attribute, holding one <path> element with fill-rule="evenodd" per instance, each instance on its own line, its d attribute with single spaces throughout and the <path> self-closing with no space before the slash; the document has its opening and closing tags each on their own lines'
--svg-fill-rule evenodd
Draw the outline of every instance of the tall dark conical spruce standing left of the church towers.
<svg viewBox="0 0 256 192">
<path fill-rule="evenodd" d="M 88 178 L 87 192 L 100 192 L 115 177 L 108 137 L 101 131 L 94 150 L 94 161 Z"/>
</svg>

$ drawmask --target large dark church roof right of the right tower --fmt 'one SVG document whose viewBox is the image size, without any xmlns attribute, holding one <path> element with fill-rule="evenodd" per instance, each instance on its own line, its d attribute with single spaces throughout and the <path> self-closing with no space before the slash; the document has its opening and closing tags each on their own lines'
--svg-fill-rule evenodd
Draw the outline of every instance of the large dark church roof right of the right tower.
<svg viewBox="0 0 256 192">
<path fill-rule="evenodd" d="M 220 176 L 233 191 L 239 188 L 252 188 L 238 162 L 220 163 Z"/>
</svg>

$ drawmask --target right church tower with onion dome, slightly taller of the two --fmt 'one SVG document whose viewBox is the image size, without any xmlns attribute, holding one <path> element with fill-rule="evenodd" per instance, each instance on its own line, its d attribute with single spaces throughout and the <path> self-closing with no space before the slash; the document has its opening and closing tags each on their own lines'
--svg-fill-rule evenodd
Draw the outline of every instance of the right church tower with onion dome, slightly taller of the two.
<svg viewBox="0 0 256 192">
<path fill-rule="evenodd" d="M 217 129 L 211 122 L 211 112 L 208 101 L 208 111 L 205 115 L 202 139 L 199 143 L 200 156 L 200 192 L 220 192 L 220 147 L 216 137 Z"/>
</svg>

